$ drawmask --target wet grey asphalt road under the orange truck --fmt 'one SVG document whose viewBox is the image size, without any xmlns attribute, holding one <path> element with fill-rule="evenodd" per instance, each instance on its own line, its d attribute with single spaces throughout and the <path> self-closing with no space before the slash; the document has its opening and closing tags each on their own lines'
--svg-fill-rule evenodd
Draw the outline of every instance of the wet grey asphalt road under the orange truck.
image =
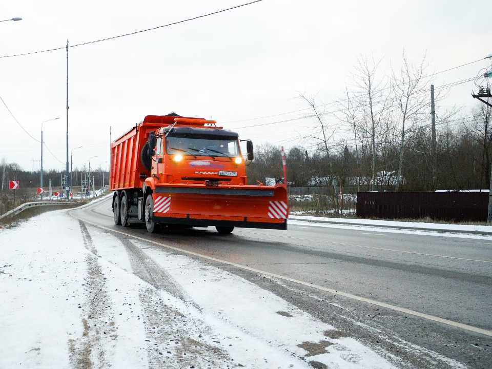
<svg viewBox="0 0 492 369">
<path fill-rule="evenodd" d="M 141 226 L 114 226 L 110 200 L 72 214 L 162 247 L 170 245 L 285 277 L 268 278 L 204 260 L 260 284 L 371 347 L 380 345 L 410 366 L 445 367 L 452 364 L 446 358 L 470 367 L 492 365 L 490 336 L 306 286 L 492 331 L 492 237 L 374 232 L 298 222 L 288 231 L 235 229 L 221 236 L 208 228 L 151 235 Z"/>
</svg>

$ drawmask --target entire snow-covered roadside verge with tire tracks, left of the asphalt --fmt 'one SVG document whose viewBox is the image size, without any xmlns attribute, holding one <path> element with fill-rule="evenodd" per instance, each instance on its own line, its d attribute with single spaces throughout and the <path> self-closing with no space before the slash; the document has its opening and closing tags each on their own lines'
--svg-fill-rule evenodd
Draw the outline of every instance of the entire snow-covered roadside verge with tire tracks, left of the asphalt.
<svg viewBox="0 0 492 369">
<path fill-rule="evenodd" d="M 254 283 L 68 210 L 0 230 L 0 296 L 1 368 L 391 367 Z"/>
</svg>

